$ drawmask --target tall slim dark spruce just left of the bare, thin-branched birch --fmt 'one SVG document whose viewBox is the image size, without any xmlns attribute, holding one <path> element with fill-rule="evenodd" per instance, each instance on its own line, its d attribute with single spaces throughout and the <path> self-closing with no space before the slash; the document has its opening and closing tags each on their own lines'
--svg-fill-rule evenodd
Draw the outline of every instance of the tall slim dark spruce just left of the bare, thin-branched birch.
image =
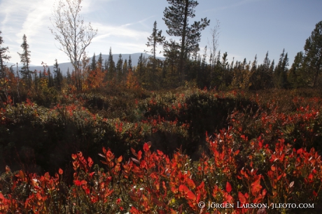
<svg viewBox="0 0 322 214">
<path fill-rule="evenodd" d="M 22 70 L 20 71 L 20 73 L 22 73 L 22 76 L 27 79 L 28 87 L 30 89 L 32 72 L 29 71 L 29 64 L 31 60 L 30 60 L 29 45 L 27 43 L 27 36 L 25 34 L 24 36 L 22 36 L 22 44 L 20 45 L 20 47 L 22 48 L 22 53 L 20 54 L 18 52 L 18 55 L 20 56 L 20 62 L 22 62 L 22 64 L 24 65 L 22 66 Z"/>
</svg>

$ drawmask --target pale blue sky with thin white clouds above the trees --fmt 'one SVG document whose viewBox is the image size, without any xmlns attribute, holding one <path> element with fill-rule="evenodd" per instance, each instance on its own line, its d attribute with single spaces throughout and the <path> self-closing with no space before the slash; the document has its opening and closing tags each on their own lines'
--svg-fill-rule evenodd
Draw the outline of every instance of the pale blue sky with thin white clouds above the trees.
<svg viewBox="0 0 322 214">
<path fill-rule="evenodd" d="M 65 1 L 65 0 L 63 0 Z M 211 41 L 211 29 L 219 24 L 218 50 L 227 52 L 229 61 L 253 62 L 255 55 L 262 63 L 266 52 L 269 59 L 279 60 L 285 48 L 289 64 L 297 52 L 322 21 L 321 0 L 199 0 L 195 17 L 190 24 L 207 17 L 210 25 L 202 31 L 200 53 Z M 17 52 L 22 52 L 22 36 L 27 36 L 31 51 L 31 64 L 48 65 L 69 62 L 67 55 L 59 50 L 49 28 L 55 0 L 0 0 L 0 31 L 3 46 L 9 48 L 10 62 L 20 62 Z M 132 54 L 148 50 L 147 37 L 152 34 L 153 23 L 167 39 L 179 37 L 167 35 L 162 20 L 166 0 L 83 0 L 80 14 L 90 22 L 97 35 L 87 47 L 87 55 Z M 208 48 L 209 50 L 209 48 Z M 159 45 L 158 52 L 162 51 Z M 158 54 L 162 57 L 162 53 Z"/>
</svg>

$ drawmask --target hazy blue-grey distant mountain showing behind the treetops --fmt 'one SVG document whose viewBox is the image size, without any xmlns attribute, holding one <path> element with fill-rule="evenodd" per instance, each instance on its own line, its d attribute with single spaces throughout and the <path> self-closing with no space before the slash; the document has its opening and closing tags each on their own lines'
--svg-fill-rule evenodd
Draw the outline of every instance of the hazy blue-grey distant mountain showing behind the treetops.
<svg viewBox="0 0 322 214">
<path fill-rule="evenodd" d="M 125 61 L 125 59 L 127 59 L 127 62 L 129 61 L 129 58 L 130 58 L 130 55 L 131 55 L 131 59 L 132 59 L 132 66 L 137 66 L 137 62 L 139 60 L 139 57 L 141 55 L 141 52 L 137 52 L 137 53 L 134 53 L 134 54 L 124 54 L 122 55 L 122 59 L 123 59 L 123 62 Z M 148 55 L 146 53 L 142 53 L 142 55 L 146 58 L 148 58 L 149 56 L 151 55 Z M 115 63 L 118 62 L 118 57 L 119 57 L 119 54 L 115 54 L 113 55 L 113 61 Z M 102 55 L 102 58 L 103 58 L 103 63 L 105 62 L 106 59 L 109 58 L 109 55 Z M 161 60 L 164 60 L 165 58 L 164 57 L 157 57 L 158 59 L 161 59 Z M 96 55 L 95 56 L 95 59 L 97 61 L 97 59 L 99 59 L 99 55 Z M 54 71 L 54 60 L 52 60 L 52 65 L 48 66 L 50 68 L 50 71 Z M 92 62 L 92 57 L 90 57 L 90 62 Z M 63 76 L 66 76 L 66 73 L 67 73 L 67 69 L 69 69 L 69 71 L 73 71 L 73 66 L 71 65 L 71 62 L 63 62 L 63 63 L 59 63 L 59 68 L 60 68 L 60 71 L 62 71 L 62 74 Z M 16 71 L 17 70 L 17 66 L 15 63 L 11 63 L 11 62 L 8 62 L 7 64 L 8 66 L 11 66 L 13 65 L 13 71 Z M 18 71 L 20 71 L 20 69 L 22 68 L 22 64 L 18 64 Z M 43 66 L 34 66 L 31 64 L 31 66 L 29 66 L 30 68 L 30 71 L 43 71 Z"/>
</svg>

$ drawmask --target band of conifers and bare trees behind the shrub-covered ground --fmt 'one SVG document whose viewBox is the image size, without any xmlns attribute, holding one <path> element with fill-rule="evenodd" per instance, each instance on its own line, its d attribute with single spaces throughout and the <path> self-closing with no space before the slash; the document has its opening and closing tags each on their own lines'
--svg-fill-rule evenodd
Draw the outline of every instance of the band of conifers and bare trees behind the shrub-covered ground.
<svg viewBox="0 0 322 214">
<path fill-rule="evenodd" d="M 201 32 L 209 26 L 210 20 L 204 17 L 200 21 L 190 22 L 190 19 L 195 17 L 197 1 L 167 1 L 169 6 L 163 12 L 163 20 L 168 28 L 166 32 L 169 36 L 178 37 L 179 41 L 167 41 L 155 21 L 152 34 L 146 43 L 149 49 L 146 52 L 151 56 L 145 58 L 141 55 L 137 66 L 132 66 L 131 57 L 123 60 L 122 55 L 114 62 L 111 48 L 108 59 L 103 61 L 100 53 L 97 60 L 94 54 L 90 62 L 85 48 L 97 34 L 97 29 L 93 29 L 90 24 L 85 25 L 80 19 L 81 1 L 67 1 L 69 8 L 73 10 L 67 10 L 63 1 L 59 1 L 53 10 L 53 25 L 57 31 L 50 30 L 61 43 L 60 50 L 69 56 L 73 71 L 67 71 L 66 76 L 62 76 L 57 59 L 53 73 L 45 64 L 43 71 L 30 71 L 31 51 L 27 36 L 24 35 L 22 53 L 18 53 L 23 66 L 19 73 L 13 73 L 13 69 L 5 64 L 10 56 L 7 55 L 8 47 L 3 47 L 3 39 L 0 36 L 0 78 L 3 93 L 8 91 L 6 84 L 10 75 L 18 77 L 19 81 L 22 81 L 20 87 L 26 87 L 27 90 L 37 91 L 45 87 L 46 90 L 53 88 L 56 92 L 62 90 L 63 85 L 82 91 L 91 84 L 102 86 L 102 83 L 140 85 L 148 90 L 174 88 L 185 84 L 218 90 L 321 87 L 322 21 L 316 24 L 305 42 L 304 51 L 297 53 L 290 68 L 288 53 L 285 50 L 281 52 L 278 62 L 271 61 L 268 52 L 261 64 L 258 63 L 257 55 L 253 62 L 246 59 L 242 62 L 235 62 L 235 59 L 228 62 L 227 52 L 216 52 L 218 22 L 215 28 L 211 29 L 212 40 L 209 48 L 206 46 L 204 52 L 200 53 Z M 165 60 L 156 58 L 158 45 L 162 46 Z"/>
</svg>

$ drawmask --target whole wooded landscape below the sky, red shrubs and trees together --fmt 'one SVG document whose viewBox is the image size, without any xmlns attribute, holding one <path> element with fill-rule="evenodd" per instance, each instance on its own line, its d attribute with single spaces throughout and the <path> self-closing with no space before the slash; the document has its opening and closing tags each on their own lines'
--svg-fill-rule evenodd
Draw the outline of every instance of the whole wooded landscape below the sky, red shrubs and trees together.
<svg viewBox="0 0 322 214">
<path fill-rule="evenodd" d="M 154 22 L 135 66 L 88 57 L 97 30 L 69 25 L 62 1 L 66 75 L 57 59 L 30 71 L 26 35 L 15 71 L 0 31 L 0 213 L 321 213 L 322 21 L 291 65 L 286 50 L 228 62 L 216 27 L 200 51 L 197 1 L 167 1 L 179 42 Z"/>
</svg>

